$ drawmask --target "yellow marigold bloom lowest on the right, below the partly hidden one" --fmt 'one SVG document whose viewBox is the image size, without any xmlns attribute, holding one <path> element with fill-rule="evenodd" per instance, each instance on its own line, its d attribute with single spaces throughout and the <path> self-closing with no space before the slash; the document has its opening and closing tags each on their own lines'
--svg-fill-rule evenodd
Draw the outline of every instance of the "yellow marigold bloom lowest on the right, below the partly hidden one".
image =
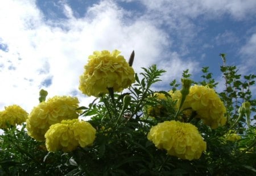
<svg viewBox="0 0 256 176">
<path fill-rule="evenodd" d="M 171 156 L 184 160 L 199 159 L 207 144 L 191 123 L 165 121 L 151 128 L 147 139 Z"/>
</svg>

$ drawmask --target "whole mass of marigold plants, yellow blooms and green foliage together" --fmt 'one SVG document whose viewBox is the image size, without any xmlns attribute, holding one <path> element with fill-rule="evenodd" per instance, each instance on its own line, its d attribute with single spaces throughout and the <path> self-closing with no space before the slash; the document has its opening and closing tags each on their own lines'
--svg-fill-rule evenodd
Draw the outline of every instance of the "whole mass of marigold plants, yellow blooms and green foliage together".
<svg viewBox="0 0 256 176">
<path fill-rule="evenodd" d="M 96 96 L 85 106 L 42 89 L 27 123 L 3 128 L 0 175 L 255 175 L 255 75 L 240 80 L 225 65 L 217 93 L 208 67 L 198 83 L 185 70 L 159 90 L 165 71 L 134 74 L 133 60 L 94 52 L 80 77 L 82 93 Z"/>
</svg>

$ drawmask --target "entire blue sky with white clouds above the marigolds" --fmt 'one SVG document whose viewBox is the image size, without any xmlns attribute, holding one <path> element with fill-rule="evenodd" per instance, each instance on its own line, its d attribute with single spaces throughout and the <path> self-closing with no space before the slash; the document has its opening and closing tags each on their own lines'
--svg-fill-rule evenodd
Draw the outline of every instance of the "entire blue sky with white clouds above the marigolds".
<svg viewBox="0 0 256 176">
<path fill-rule="evenodd" d="M 168 90 L 189 68 L 199 80 L 209 66 L 221 81 L 220 53 L 242 74 L 255 74 L 255 0 L 1 0 L 0 110 L 38 104 L 40 89 L 93 98 L 78 89 L 88 55 L 118 49 L 134 69 L 157 64 L 167 70 Z"/>
</svg>

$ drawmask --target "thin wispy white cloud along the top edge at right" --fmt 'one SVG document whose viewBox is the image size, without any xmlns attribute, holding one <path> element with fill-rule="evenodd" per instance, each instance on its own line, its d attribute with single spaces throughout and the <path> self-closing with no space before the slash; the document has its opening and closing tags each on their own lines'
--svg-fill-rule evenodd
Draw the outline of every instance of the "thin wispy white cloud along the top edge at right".
<svg viewBox="0 0 256 176">
<path fill-rule="evenodd" d="M 141 0 L 150 10 L 159 11 L 161 14 L 172 14 L 174 17 L 184 15 L 196 18 L 200 15 L 208 18 L 230 15 L 232 18 L 242 20 L 247 15 L 256 15 L 256 1 L 254 0 L 195 0 L 195 1 L 173 1 L 173 0 Z"/>
</svg>

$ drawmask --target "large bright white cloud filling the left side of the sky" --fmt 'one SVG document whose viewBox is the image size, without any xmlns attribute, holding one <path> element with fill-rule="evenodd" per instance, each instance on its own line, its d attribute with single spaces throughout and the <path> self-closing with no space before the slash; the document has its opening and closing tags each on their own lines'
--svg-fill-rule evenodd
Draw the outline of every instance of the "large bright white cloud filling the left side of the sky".
<svg viewBox="0 0 256 176">
<path fill-rule="evenodd" d="M 41 88 L 47 89 L 49 97 L 76 94 L 83 66 L 94 50 L 119 49 L 127 59 L 135 50 L 136 71 L 169 58 L 164 53 L 171 45 L 166 33 L 150 20 L 126 23 L 129 13 L 112 1 L 89 7 L 79 19 L 66 3 L 63 7 L 68 19 L 45 21 L 35 1 L 0 2 L 0 38 L 9 49 L 0 50 L 0 81 L 4 83 L 0 110 L 19 104 L 30 111 L 38 104 Z M 10 66 L 15 70 L 8 69 Z M 50 78 L 52 84 L 43 87 L 43 81 Z M 80 92 L 77 96 L 85 104 L 92 99 Z"/>
</svg>

